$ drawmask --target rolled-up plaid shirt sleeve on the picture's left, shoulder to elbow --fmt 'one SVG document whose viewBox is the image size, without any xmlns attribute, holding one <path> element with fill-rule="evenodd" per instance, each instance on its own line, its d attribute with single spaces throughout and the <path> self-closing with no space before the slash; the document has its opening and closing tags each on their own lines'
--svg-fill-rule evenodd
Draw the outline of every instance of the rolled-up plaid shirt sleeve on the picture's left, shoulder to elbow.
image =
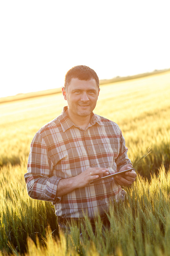
<svg viewBox="0 0 170 256">
<path fill-rule="evenodd" d="M 24 175 L 28 195 L 33 199 L 59 203 L 56 197 L 58 182 L 61 178 L 53 176 L 53 163 L 50 159 L 45 140 L 36 133 L 30 146 L 27 173 Z"/>
</svg>

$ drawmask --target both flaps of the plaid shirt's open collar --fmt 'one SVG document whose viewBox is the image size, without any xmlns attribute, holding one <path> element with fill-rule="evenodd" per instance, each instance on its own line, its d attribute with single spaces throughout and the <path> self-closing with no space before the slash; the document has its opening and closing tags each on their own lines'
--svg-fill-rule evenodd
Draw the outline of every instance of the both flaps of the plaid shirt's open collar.
<svg viewBox="0 0 170 256">
<path fill-rule="evenodd" d="M 58 117 L 63 132 L 70 129 L 74 125 L 73 122 L 70 120 L 69 116 L 66 113 L 67 108 L 68 108 L 68 106 L 65 106 L 62 110 L 61 115 Z M 91 119 L 90 119 L 90 124 L 94 125 L 96 123 L 98 123 L 99 125 L 104 125 L 103 122 L 101 121 L 100 116 L 98 116 L 98 115 L 96 115 L 92 112 Z"/>
</svg>

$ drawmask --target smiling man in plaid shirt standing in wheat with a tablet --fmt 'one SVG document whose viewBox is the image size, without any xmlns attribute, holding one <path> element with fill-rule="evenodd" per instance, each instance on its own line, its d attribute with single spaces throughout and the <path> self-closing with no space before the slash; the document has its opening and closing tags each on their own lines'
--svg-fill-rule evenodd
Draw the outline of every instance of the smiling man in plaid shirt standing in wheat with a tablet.
<svg viewBox="0 0 170 256">
<path fill-rule="evenodd" d="M 62 88 L 68 107 L 43 126 L 31 142 L 29 196 L 55 205 L 59 225 L 87 213 L 105 218 L 110 200 L 119 200 L 121 186 L 134 182 L 136 172 L 90 183 L 103 175 L 131 168 L 122 132 L 114 122 L 94 114 L 100 88 L 96 72 L 86 66 L 71 68 Z"/>
</svg>

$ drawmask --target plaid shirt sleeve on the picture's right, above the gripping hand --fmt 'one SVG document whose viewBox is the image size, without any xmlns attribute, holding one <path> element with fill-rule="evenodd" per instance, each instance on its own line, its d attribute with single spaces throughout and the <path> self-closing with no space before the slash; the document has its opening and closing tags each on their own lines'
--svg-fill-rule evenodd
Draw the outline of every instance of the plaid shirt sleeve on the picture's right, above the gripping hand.
<svg viewBox="0 0 170 256">
<path fill-rule="evenodd" d="M 130 159 L 128 158 L 128 148 L 125 146 L 125 139 L 122 135 L 122 131 L 120 130 L 120 148 L 119 148 L 119 155 L 115 159 L 115 163 L 117 165 L 117 172 L 120 171 L 122 166 L 125 164 L 132 164 Z"/>
</svg>

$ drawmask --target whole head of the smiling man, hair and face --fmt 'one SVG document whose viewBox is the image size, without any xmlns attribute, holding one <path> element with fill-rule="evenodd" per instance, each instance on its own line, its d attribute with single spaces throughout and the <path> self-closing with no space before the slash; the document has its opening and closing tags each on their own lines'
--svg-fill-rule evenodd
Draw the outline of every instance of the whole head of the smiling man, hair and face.
<svg viewBox="0 0 170 256">
<path fill-rule="evenodd" d="M 70 119 L 90 116 L 99 92 L 99 78 L 93 69 L 87 66 L 71 68 L 65 76 L 65 87 L 62 88 Z"/>
</svg>

